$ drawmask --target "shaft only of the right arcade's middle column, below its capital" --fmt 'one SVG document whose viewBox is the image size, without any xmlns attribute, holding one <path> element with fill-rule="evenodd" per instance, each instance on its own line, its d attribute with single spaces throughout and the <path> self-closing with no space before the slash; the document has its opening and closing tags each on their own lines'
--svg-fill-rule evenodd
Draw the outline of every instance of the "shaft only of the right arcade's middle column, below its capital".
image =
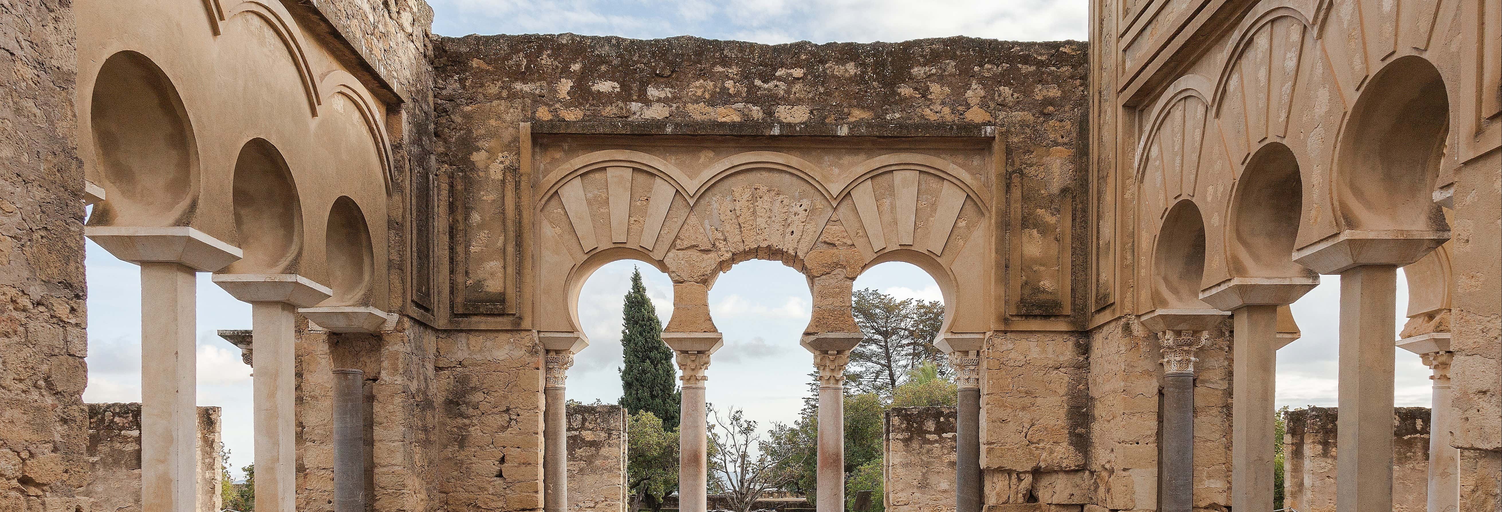
<svg viewBox="0 0 1502 512">
<path fill-rule="evenodd" d="M 1235 311 L 1232 342 L 1232 509 L 1272 510 L 1278 306 Z"/>
</svg>

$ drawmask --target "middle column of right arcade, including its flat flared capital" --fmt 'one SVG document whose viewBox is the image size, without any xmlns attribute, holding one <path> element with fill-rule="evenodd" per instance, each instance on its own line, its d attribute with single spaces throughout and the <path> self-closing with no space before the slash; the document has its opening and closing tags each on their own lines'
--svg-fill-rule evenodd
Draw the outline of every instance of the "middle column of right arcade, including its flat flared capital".
<svg viewBox="0 0 1502 512">
<path fill-rule="evenodd" d="M 1298 339 L 1284 309 L 1319 285 L 1319 276 L 1232 278 L 1200 300 L 1233 311 L 1230 500 L 1238 510 L 1272 510 L 1278 348 Z M 1281 315 L 1287 314 L 1287 318 Z M 1281 323 L 1281 324 L 1280 324 Z"/>
</svg>

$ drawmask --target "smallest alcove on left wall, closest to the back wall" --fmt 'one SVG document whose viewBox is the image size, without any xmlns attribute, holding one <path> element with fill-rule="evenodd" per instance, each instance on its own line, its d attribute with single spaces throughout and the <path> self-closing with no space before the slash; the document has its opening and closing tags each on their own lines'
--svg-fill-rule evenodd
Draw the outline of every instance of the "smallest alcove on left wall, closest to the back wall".
<svg viewBox="0 0 1502 512">
<path fill-rule="evenodd" d="M 376 269 L 376 254 L 371 248 L 369 227 L 354 200 L 347 195 L 333 201 L 329 210 L 329 228 L 324 237 L 324 254 L 329 258 L 329 287 L 333 296 L 326 305 L 362 306 L 371 300 L 371 278 Z"/>
</svg>

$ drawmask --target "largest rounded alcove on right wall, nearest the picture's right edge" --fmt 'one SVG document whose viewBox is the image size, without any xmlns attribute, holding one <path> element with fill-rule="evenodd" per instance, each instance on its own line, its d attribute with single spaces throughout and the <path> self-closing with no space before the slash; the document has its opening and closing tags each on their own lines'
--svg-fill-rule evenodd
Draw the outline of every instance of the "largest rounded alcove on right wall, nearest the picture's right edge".
<svg viewBox="0 0 1502 512">
<path fill-rule="evenodd" d="M 1433 203 L 1449 132 L 1445 83 L 1427 60 L 1394 60 L 1362 89 L 1340 137 L 1335 198 L 1346 228 L 1434 230 Z"/>
</svg>

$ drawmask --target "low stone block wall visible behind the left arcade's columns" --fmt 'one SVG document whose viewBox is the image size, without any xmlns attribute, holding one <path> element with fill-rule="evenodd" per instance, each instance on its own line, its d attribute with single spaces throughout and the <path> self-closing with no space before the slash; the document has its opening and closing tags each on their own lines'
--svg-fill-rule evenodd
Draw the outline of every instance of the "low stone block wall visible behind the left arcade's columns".
<svg viewBox="0 0 1502 512">
<path fill-rule="evenodd" d="M 222 509 L 219 408 L 198 407 L 198 512 Z M 141 404 L 89 404 L 89 512 L 141 512 Z"/>
</svg>

